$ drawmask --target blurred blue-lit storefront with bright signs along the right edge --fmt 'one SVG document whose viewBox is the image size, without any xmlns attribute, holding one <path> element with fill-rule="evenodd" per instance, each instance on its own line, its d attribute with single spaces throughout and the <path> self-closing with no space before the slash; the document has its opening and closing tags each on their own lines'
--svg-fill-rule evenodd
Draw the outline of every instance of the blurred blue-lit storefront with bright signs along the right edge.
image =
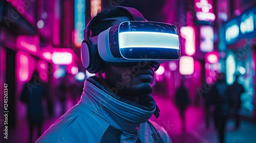
<svg viewBox="0 0 256 143">
<path fill-rule="evenodd" d="M 231 85 L 235 76 L 245 88 L 241 96 L 240 114 L 255 118 L 255 54 L 256 7 L 230 19 L 220 29 L 220 58 L 226 81 Z"/>
</svg>

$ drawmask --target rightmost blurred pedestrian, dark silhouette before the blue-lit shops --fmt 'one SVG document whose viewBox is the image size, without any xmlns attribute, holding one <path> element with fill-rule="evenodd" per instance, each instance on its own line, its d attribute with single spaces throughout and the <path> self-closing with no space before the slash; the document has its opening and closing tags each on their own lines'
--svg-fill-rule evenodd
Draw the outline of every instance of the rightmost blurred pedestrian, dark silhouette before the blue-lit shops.
<svg viewBox="0 0 256 143">
<path fill-rule="evenodd" d="M 242 84 L 238 83 L 239 76 L 236 75 L 236 80 L 234 83 L 230 86 L 230 94 L 232 98 L 232 108 L 233 108 L 233 114 L 234 114 L 234 120 L 236 122 L 235 129 L 239 129 L 240 127 L 240 115 L 239 110 L 241 108 L 241 95 L 245 92 L 245 89 Z"/>
</svg>

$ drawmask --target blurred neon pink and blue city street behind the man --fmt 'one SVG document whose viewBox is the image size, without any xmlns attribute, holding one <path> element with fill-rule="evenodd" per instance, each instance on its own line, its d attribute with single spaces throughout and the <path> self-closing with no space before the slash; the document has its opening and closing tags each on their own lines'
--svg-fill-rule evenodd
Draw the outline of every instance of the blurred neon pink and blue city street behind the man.
<svg viewBox="0 0 256 143">
<path fill-rule="evenodd" d="M 173 142 L 219 142 L 214 121 L 223 102 L 211 102 L 217 96 L 211 89 L 219 89 L 221 79 L 228 87 L 238 82 L 244 89 L 239 102 L 232 103 L 239 108 L 230 105 L 225 142 L 256 142 L 253 0 L 1 0 L 0 106 L 4 114 L 8 104 L 9 111 L 7 119 L 0 116 L 1 142 L 29 142 L 27 106 L 20 96 L 35 69 L 49 95 L 41 101 L 45 116 L 41 132 L 79 101 L 84 79 L 93 76 L 81 64 L 83 29 L 97 10 L 117 5 L 136 8 L 148 21 L 172 23 L 179 30 L 181 58 L 161 64 L 152 93 L 161 112 L 151 119 L 167 130 Z M 181 86 L 187 91 L 182 93 L 187 94 L 182 109 L 176 98 Z M 8 102 L 2 94 L 6 88 Z M 3 134 L 6 120 L 8 139 Z M 35 141 L 37 130 L 33 132 Z"/>
</svg>

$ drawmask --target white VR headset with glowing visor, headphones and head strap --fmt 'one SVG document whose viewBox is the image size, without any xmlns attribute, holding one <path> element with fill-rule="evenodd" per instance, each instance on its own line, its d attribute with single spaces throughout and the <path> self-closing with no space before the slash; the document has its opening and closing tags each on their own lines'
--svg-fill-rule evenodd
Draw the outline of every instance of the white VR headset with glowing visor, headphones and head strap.
<svg viewBox="0 0 256 143">
<path fill-rule="evenodd" d="M 116 6 L 128 11 L 135 21 L 124 21 L 91 37 L 90 22 L 84 29 L 81 44 L 83 66 L 97 73 L 102 62 L 114 66 L 150 61 L 163 63 L 180 58 L 178 30 L 174 25 L 147 21 L 134 8 Z"/>
</svg>

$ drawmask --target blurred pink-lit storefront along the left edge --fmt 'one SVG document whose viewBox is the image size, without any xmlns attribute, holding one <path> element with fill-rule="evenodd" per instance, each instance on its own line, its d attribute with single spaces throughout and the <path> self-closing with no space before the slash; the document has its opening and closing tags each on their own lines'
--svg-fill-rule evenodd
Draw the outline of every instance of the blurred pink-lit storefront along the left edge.
<svg viewBox="0 0 256 143">
<path fill-rule="evenodd" d="M 9 112 L 8 127 L 15 127 L 20 118 L 26 117 L 26 107 L 19 101 L 19 96 L 25 83 L 33 76 L 33 71 L 37 69 L 39 77 L 48 86 L 52 75 L 49 72 L 52 63 L 42 56 L 40 47 L 44 41 L 36 25 L 37 3 L 28 1 L 27 7 L 19 3 L 22 2 L 0 2 L 0 83 L 8 85 L 8 101 L 5 100 Z M 1 92 L 4 92 L 3 87 Z M 0 96 L 1 106 L 3 96 Z"/>
</svg>

